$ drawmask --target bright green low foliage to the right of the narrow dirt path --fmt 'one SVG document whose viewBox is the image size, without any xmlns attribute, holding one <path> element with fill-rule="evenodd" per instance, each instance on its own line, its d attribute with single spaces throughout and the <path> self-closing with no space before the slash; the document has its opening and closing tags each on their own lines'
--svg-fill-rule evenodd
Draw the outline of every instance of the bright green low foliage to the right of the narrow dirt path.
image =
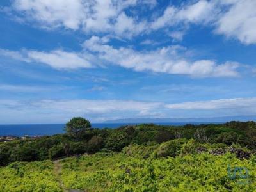
<svg viewBox="0 0 256 192">
<path fill-rule="evenodd" d="M 230 153 L 157 159 L 95 154 L 62 163 L 65 186 L 86 191 L 253 191 L 256 181 L 255 156 L 240 160 Z M 246 167 L 250 176 L 232 180 L 228 166 Z"/>
</svg>

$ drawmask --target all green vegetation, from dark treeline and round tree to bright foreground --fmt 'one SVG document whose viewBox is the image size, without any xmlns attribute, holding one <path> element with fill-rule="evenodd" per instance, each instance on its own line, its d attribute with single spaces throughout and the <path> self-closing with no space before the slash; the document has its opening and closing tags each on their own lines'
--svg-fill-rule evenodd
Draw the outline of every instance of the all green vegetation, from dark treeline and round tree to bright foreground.
<svg viewBox="0 0 256 192">
<path fill-rule="evenodd" d="M 0 143 L 0 191 L 256 190 L 255 122 L 92 129 L 74 118 L 66 127 Z"/>
</svg>

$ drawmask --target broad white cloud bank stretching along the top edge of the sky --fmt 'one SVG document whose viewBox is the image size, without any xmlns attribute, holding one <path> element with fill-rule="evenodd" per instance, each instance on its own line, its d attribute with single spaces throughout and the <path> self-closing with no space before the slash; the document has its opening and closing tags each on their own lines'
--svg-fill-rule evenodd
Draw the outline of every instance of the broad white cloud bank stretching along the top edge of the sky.
<svg viewBox="0 0 256 192">
<path fill-rule="evenodd" d="M 146 6 L 156 0 L 14 0 L 12 8 L 19 20 L 30 20 L 44 28 L 82 29 L 85 33 L 111 34 L 122 38 L 147 34 L 162 28 L 188 30 L 190 24 L 209 25 L 216 33 L 237 38 L 244 44 L 256 43 L 256 1 L 198 0 L 168 6 L 160 17 L 128 15 L 128 8 Z M 150 15 L 154 15 L 154 12 Z M 172 29 L 172 31 L 177 29 Z M 177 36 L 179 35 L 179 36 Z M 180 34 L 172 35 L 177 40 Z"/>
</svg>

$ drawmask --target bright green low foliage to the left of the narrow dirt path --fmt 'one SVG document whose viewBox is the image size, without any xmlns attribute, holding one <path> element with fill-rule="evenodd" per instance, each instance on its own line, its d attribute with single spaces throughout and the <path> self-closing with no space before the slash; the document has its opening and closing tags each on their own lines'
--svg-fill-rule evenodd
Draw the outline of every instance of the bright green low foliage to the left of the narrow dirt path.
<svg viewBox="0 0 256 192">
<path fill-rule="evenodd" d="M 62 191 L 51 161 L 12 163 L 0 168 L 0 191 Z"/>
</svg>

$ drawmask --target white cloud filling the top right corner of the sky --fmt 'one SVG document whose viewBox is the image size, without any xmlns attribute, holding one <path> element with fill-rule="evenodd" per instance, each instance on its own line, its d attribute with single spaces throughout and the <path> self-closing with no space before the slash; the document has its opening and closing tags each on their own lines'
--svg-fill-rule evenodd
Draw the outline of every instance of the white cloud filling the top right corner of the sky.
<svg viewBox="0 0 256 192">
<path fill-rule="evenodd" d="M 199 0 L 180 8 L 168 6 L 163 15 L 152 22 L 151 28 L 207 24 L 214 26 L 216 33 L 236 38 L 243 44 L 255 44 L 255 9 L 254 0 Z"/>
</svg>

